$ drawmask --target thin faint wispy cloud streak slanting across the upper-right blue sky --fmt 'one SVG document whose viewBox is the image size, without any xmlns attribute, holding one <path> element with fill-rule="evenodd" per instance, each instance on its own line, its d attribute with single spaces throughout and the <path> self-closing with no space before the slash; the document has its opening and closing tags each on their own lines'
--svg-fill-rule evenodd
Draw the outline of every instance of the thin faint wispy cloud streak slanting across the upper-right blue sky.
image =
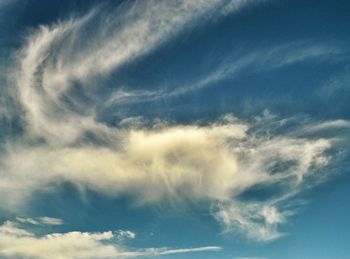
<svg viewBox="0 0 350 259">
<path fill-rule="evenodd" d="M 315 45 L 308 41 L 296 41 L 268 48 L 256 48 L 248 53 L 237 54 L 233 51 L 214 70 L 201 76 L 199 80 L 173 87 L 170 92 L 148 93 L 148 99 L 170 98 L 195 92 L 201 88 L 215 85 L 223 80 L 233 79 L 242 74 L 254 74 L 262 71 L 276 70 L 311 60 L 335 60 L 339 55 L 347 56 L 347 51 L 332 43 Z M 140 96 L 142 101 L 147 96 Z"/>
</svg>

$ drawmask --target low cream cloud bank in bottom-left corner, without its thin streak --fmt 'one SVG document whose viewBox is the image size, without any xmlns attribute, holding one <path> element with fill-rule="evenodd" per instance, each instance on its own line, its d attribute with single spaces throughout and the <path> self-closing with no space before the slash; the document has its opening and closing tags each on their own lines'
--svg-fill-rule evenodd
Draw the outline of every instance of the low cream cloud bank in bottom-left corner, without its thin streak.
<svg viewBox="0 0 350 259">
<path fill-rule="evenodd" d="M 0 227 L 0 255 L 12 258 L 111 258 L 119 253 L 117 247 L 103 244 L 113 238 L 110 231 L 54 233 L 42 237 L 23 231 L 11 222 Z"/>
</svg>

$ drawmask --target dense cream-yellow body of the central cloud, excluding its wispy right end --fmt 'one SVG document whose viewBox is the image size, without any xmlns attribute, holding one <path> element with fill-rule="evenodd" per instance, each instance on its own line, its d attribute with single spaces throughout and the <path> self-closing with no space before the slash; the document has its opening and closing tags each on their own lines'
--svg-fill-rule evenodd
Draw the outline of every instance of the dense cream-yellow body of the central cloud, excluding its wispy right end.
<svg viewBox="0 0 350 259">
<path fill-rule="evenodd" d="M 111 147 L 12 145 L 3 161 L 11 172 L 3 187 L 19 192 L 63 180 L 110 195 L 130 192 L 146 203 L 180 193 L 225 199 L 234 181 L 235 185 L 249 182 L 235 173 L 235 156 L 225 144 L 243 138 L 245 131 L 246 125 L 239 123 L 171 126 L 125 131 L 109 139 Z M 13 186 L 19 179 L 24 181 L 21 188 Z"/>
</svg>

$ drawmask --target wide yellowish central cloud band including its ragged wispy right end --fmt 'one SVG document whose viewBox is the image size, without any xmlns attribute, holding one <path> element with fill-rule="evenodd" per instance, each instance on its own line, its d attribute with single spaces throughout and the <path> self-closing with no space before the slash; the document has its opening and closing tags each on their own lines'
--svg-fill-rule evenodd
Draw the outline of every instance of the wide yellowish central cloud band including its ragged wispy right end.
<svg viewBox="0 0 350 259">
<path fill-rule="evenodd" d="M 217 204 L 212 214 L 225 232 L 273 240 L 295 213 L 288 208 L 293 197 L 328 177 L 321 172 L 336 142 L 308 139 L 298 128 L 272 134 L 273 116 L 267 117 L 243 122 L 226 115 L 202 126 L 158 122 L 154 128 L 124 128 L 108 146 L 12 144 L 1 161 L 1 197 L 12 197 L 18 206 L 36 190 L 52 190 L 63 181 L 111 197 L 127 194 L 143 205 L 205 200 Z M 278 191 L 242 200 L 257 187 Z"/>
</svg>

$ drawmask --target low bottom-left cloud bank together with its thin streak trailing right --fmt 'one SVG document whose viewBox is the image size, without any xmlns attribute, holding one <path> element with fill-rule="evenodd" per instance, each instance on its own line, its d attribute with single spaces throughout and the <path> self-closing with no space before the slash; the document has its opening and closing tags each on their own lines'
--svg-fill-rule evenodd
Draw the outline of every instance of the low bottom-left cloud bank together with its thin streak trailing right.
<svg viewBox="0 0 350 259">
<path fill-rule="evenodd" d="M 106 232 L 67 232 L 36 235 L 17 223 L 6 221 L 0 226 L 0 256 L 5 258 L 130 258 L 158 256 L 166 254 L 218 251 L 221 247 L 208 246 L 185 249 L 147 248 L 128 250 L 116 241 L 120 233 L 131 231 Z M 131 235 L 131 233 L 133 233 Z M 132 237 L 131 237 L 131 236 Z"/>
</svg>

